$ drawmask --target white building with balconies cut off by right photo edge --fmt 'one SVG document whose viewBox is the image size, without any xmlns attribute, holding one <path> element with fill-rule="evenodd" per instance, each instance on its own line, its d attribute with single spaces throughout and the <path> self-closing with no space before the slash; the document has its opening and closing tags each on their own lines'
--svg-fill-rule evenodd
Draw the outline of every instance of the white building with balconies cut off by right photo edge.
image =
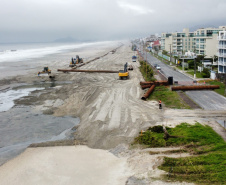
<svg viewBox="0 0 226 185">
<path fill-rule="evenodd" d="M 219 32 L 218 42 L 218 73 L 226 73 L 226 31 Z"/>
</svg>

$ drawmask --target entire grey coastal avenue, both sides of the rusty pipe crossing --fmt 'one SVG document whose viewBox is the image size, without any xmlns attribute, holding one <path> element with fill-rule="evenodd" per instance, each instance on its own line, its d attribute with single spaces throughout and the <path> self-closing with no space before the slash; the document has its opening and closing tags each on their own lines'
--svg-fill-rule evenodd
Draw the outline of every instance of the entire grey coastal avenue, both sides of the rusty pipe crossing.
<svg viewBox="0 0 226 185">
<path fill-rule="evenodd" d="M 139 48 L 142 48 L 142 46 L 140 45 Z M 164 64 L 149 52 L 147 52 L 147 56 L 144 52 L 141 55 L 144 59 L 147 58 L 147 62 L 152 66 L 158 64 L 161 67 L 161 73 L 166 77 L 173 76 L 173 80 L 180 84 L 192 84 L 193 79 Z M 214 91 L 186 91 L 186 94 L 204 110 L 226 110 L 226 98 Z"/>
</svg>

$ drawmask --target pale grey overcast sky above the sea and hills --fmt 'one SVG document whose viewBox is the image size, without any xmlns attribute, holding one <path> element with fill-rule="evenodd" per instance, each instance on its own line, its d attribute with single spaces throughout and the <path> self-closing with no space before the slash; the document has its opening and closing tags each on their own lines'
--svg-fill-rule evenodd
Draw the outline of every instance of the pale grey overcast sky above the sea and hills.
<svg viewBox="0 0 226 185">
<path fill-rule="evenodd" d="M 0 0 L 0 43 L 112 40 L 226 25 L 226 0 Z"/>
</svg>

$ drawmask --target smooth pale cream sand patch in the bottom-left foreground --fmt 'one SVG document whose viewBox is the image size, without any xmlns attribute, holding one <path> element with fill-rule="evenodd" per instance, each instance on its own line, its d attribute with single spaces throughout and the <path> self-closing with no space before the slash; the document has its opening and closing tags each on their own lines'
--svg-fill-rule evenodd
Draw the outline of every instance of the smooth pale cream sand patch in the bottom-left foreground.
<svg viewBox="0 0 226 185">
<path fill-rule="evenodd" d="M 0 168 L 2 185 L 121 185 L 129 175 L 125 158 L 86 146 L 29 148 Z"/>
</svg>

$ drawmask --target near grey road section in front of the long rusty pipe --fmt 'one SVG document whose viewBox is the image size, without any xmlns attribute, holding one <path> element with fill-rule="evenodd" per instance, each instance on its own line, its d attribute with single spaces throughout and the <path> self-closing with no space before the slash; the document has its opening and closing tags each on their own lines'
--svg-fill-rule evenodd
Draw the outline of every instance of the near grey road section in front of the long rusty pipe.
<svg viewBox="0 0 226 185">
<path fill-rule="evenodd" d="M 226 110 L 226 98 L 214 91 L 186 91 L 186 94 L 204 110 Z"/>
</svg>

